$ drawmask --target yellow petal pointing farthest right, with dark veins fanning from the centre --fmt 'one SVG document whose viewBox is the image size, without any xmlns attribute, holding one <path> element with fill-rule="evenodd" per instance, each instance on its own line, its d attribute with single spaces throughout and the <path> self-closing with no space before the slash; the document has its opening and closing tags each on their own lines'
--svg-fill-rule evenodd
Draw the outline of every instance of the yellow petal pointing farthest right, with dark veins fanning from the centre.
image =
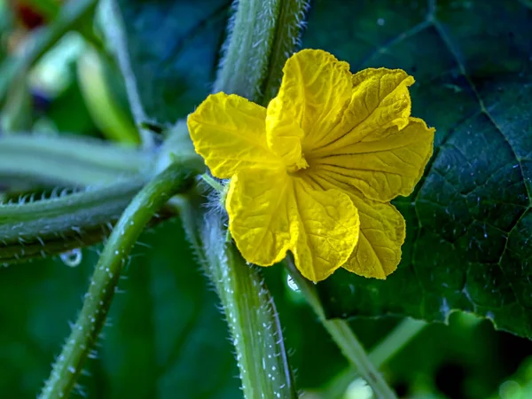
<svg viewBox="0 0 532 399">
<path fill-rule="evenodd" d="M 433 153 L 434 129 L 411 118 L 403 130 L 392 127 L 385 133 L 380 140 L 347 145 L 337 153 L 312 159 L 312 168 L 332 184 L 348 184 L 372 200 L 407 196 Z"/>
</svg>

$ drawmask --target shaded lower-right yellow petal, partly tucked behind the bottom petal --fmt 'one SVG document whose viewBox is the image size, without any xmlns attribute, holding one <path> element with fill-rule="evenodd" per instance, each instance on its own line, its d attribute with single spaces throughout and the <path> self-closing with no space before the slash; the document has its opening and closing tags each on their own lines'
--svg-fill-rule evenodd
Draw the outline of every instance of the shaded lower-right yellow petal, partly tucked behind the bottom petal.
<svg viewBox="0 0 532 399">
<path fill-rule="evenodd" d="M 401 262 L 403 215 L 390 203 L 350 197 L 360 215 L 360 239 L 343 268 L 367 278 L 386 278 Z"/>
</svg>

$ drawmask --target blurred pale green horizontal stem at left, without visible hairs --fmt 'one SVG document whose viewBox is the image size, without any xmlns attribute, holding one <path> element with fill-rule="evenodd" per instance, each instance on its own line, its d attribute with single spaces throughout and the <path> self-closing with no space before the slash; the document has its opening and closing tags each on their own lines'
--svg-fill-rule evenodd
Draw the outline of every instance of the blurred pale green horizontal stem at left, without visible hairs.
<svg viewBox="0 0 532 399">
<path fill-rule="evenodd" d="M 105 141 L 23 134 L 0 137 L 0 180 L 92 185 L 152 173 L 153 154 Z"/>
</svg>

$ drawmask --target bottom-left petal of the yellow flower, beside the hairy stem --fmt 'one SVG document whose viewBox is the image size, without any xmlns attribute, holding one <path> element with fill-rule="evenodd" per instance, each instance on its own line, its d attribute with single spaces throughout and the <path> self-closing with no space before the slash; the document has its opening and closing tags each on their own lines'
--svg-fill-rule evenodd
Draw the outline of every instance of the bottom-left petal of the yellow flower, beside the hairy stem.
<svg viewBox="0 0 532 399">
<path fill-rule="evenodd" d="M 284 170 L 249 169 L 231 179 L 226 208 L 229 231 L 247 262 L 280 262 L 295 242 L 291 234 L 291 179 Z"/>
</svg>

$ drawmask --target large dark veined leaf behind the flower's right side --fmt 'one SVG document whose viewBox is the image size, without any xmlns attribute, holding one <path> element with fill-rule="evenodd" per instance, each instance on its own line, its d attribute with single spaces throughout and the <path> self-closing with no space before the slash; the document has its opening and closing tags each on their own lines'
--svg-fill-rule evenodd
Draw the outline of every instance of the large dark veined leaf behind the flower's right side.
<svg viewBox="0 0 532 399">
<path fill-rule="evenodd" d="M 386 281 L 344 270 L 319 285 L 331 317 L 445 320 L 453 309 L 532 338 L 532 10 L 519 1 L 317 1 L 304 47 L 353 71 L 403 68 L 412 114 L 435 126 Z"/>
</svg>

